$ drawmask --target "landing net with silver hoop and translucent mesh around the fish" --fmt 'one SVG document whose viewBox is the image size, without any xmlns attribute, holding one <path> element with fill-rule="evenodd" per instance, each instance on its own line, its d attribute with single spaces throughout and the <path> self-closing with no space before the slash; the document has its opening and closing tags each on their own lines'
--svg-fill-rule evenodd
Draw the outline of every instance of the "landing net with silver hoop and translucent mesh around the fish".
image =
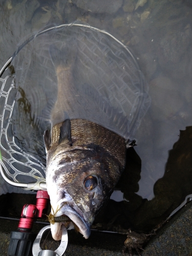
<svg viewBox="0 0 192 256">
<path fill-rule="evenodd" d="M 106 31 L 99 30 L 97 28 L 90 27 L 89 25 L 84 25 L 84 24 L 79 24 L 79 23 L 73 23 L 73 24 L 65 24 L 65 25 L 60 25 L 56 27 L 50 27 L 46 28 L 36 34 L 33 34 L 31 37 L 29 37 L 27 40 L 23 41 L 22 44 L 20 44 L 16 50 L 16 52 L 13 54 L 13 56 L 7 61 L 7 63 L 4 65 L 2 70 L 0 71 L 0 149 L 1 149 L 1 154 L 2 154 L 2 160 L 1 161 L 1 173 L 3 178 L 10 184 L 15 185 L 15 186 L 20 186 L 20 187 L 25 187 L 25 189 L 46 189 L 46 180 L 45 180 L 45 170 L 46 170 L 46 153 L 44 154 L 44 145 L 43 145 L 43 140 L 40 139 L 40 153 L 39 154 L 31 154 L 26 150 L 26 146 L 23 146 L 23 142 L 19 141 L 18 137 L 22 137 L 23 132 L 19 132 L 15 135 L 15 127 L 21 127 L 21 131 L 24 131 L 24 142 L 28 147 L 30 148 L 30 139 L 27 141 L 25 140 L 25 136 L 30 138 L 30 136 L 33 136 L 31 134 L 30 130 L 30 124 L 28 125 L 29 127 L 29 133 L 25 131 L 25 127 L 22 127 L 23 123 L 25 123 L 25 115 L 22 115 L 22 113 L 26 112 L 27 108 L 27 103 L 20 101 L 18 104 L 18 100 L 16 100 L 16 95 L 19 91 L 19 88 L 22 88 L 22 86 L 16 84 L 15 82 L 15 67 L 17 68 L 17 73 L 20 72 L 20 77 L 21 80 L 19 83 L 22 83 L 22 81 L 25 80 L 25 69 L 23 69 L 23 61 L 22 58 L 17 58 L 17 55 L 19 52 L 24 52 L 24 56 L 28 56 L 30 58 L 30 55 L 25 54 L 25 48 L 26 46 L 30 45 L 30 42 L 32 42 L 35 38 L 39 37 L 40 35 L 44 35 L 46 32 L 49 32 L 54 30 L 54 31 L 60 31 L 58 33 L 58 36 L 63 36 L 62 35 L 62 29 L 67 27 L 79 27 L 82 28 L 83 33 L 86 35 L 84 38 L 85 40 L 88 40 L 89 42 L 94 42 L 94 40 L 101 41 L 101 44 L 103 44 L 104 40 L 104 45 L 102 45 L 104 53 L 109 55 L 108 52 L 110 52 L 111 55 L 106 57 L 105 59 L 110 60 L 110 65 L 108 70 L 110 70 L 111 74 L 113 75 L 114 81 L 112 81 L 110 89 L 107 88 L 107 90 L 111 93 L 110 99 L 107 99 L 104 95 L 106 92 L 105 85 L 102 86 L 100 85 L 100 91 L 103 90 L 103 95 L 102 93 L 100 94 L 100 91 L 97 91 L 97 85 L 94 85 L 95 79 L 92 79 L 93 81 L 93 88 L 89 90 L 86 82 L 82 85 L 82 94 L 83 90 L 88 91 L 88 96 L 91 95 L 93 96 L 93 99 L 95 100 L 95 104 L 97 102 L 100 102 L 100 111 L 103 111 L 103 120 L 105 121 L 106 119 L 109 120 L 109 123 L 113 124 L 116 122 L 117 125 L 117 131 L 115 129 L 112 129 L 114 132 L 119 131 L 119 135 L 124 137 L 125 139 L 129 136 L 129 133 L 132 134 L 135 129 L 137 129 L 141 118 L 143 115 L 146 113 L 149 105 L 150 105 L 150 97 L 148 97 L 147 94 L 147 84 L 145 82 L 144 76 L 142 72 L 139 69 L 138 63 L 132 52 L 130 51 L 129 48 L 125 47 L 121 41 L 116 39 L 114 36 L 109 34 Z M 70 31 L 70 29 L 69 29 Z M 71 29 L 73 31 L 73 29 Z M 92 34 L 91 34 L 92 33 Z M 91 35 L 91 37 L 89 37 Z M 55 36 L 55 35 L 54 35 Z M 72 35 L 73 36 L 73 35 Z M 114 44 L 112 44 L 111 49 L 109 45 L 105 46 L 105 42 L 108 42 L 109 39 L 114 41 Z M 45 36 L 46 38 L 46 36 Z M 54 37 L 53 37 L 54 38 Z M 66 38 L 66 34 L 64 35 L 63 38 Z M 90 39 L 91 38 L 91 39 Z M 58 39 L 58 38 L 57 38 Z M 78 40 L 78 39 L 77 39 Z M 37 40 L 38 41 L 38 40 Z M 79 40 L 81 42 L 81 39 Z M 62 40 L 61 40 L 62 42 Z M 59 42 L 60 44 L 60 42 Z M 33 46 L 33 44 L 31 44 Z M 35 44 L 34 44 L 35 45 Z M 40 45 L 40 43 L 39 43 Z M 92 44 L 94 46 L 94 43 Z M 91 47 L 91 44 L 90 44 Z M 98 46 L 97 46 L 98 47 Z M 97 47 L 92 47 L 89 49 L 89 52 L 95 51 L 93 54 L 97 54 Z M 118 47 L 120 50 L 118 50 Z M 81 56 L 82 56 L 82 66 L 84 67 L 84 71 L 89 69 L 88 65 L 88 60 L 90 61 L 91 58 L 87 57 L 86 51 L 88 49 L 88 45 L 81 45 Z M 80 49 L 80 47 L 79 47 Z M 44 50 L 44 47 L 42 46 L 42 50 Z M 102 60 L 102 51 L 101 48 L 99 49 L 101 53 L 99 53 L 95 59 L 93 65 L 99 62 L 99 59 Z M 116 53 L 115 53 L 116 51 Z M 49 51 L 47 51 L 49 52 Z M 29 53 L 29 51 L 27 52 Z M 116 54 L 116 55 L 115 55 Z M 22 54 L 21 54 L 22 56 Z M 38 54 L 37 54 L 38 56 Z M 44 56 L 43 56 L 44 57 Z M 84 58 L 84 59 L 83 59 Z M 126 62 L 127 58 L 127 62 Z M 14 59 L 16 61 L 14 62 Z M 18 59 L 18 60 L 17 60 Z M 24 59 L 25 60 L 25 59 Z M 46 60 L 46 58 L 45 58 Z M 20 62 L 19 62 L 20 61 Z M 46 60 L 47 61 L 47 60 Z M 49 65 L 51 65 L 51 62 L 46 62 Z M 26 57 L 26 63 L 28 62 L 28 59 Z M 17 66 L 14 66 L 14 64 L 17 63 Z M 20 66 L 19 66 L 20 65 Z M 28 65 L 28 64 L 26 64 Z M 42 65 L 44 66 L 44 65 Z M 94 66 L 96 67 L 96 65 Z M 114 68 L 115 67 L 115 68 Z M 117 67 L 117 68 L 116 68 Z M 52 67 L 53 68 L 53 67 Z M 27 72 L 29 72 L 30 68 L 27 68 Z M 103 70 L 100 68 L 100 70 L 103 72 Z M 117 71 L 116 71 L 117 70 Z M 98 69 L 99 71 L 99 69 Z M 101 72 L 99 71 L 99 72 Z M 23 73 L 22 73 L 23 72 Z M 27 73 L 26 72 L 26 73 Z M 51 70 L 52 72 L 52 70 Z M 95 72 L 95 70 L 94 70 Z M 126 73 L 125 73 L 126 72 Z M 129 74 L 129 72 L 133 73 L 133 76 Z M 30 73 L 30 72 L 29 72 Z M 84 72 L 86 73 L 86 72 Z M 80 73 L 79 73 L 80 74 Z M 78 75 L 79 75 L 78 74 Z M 107 71 L 103 72 L 103 81 L 108 82 L 108 80 L 111 79 Z M 95 73 L 94 73 L 95 75 Z M 51 76 L 50 76 L 51 77 Z M 77 77 L 78 78 L 78 77 Z M 83 79 L 88 79 L 88 77 L 82 77 Z M 22 80 L 23 79 L 23 80 Z M 90 79 L 90 77 L 89 77 Z M 99 77 L 101 79 L 101 77 Z M 121 80 L 120 80 L 121 79 Z M 123 80 L 124 79 L 124 80 Z M 126 87 L 126 82 L 125 80 L 128 79 L 127 81 L 131 81 L 130 86 Z M 50 79 L 51 80 L 51 79 Z M 78 81 L 78 79 L 77 79 Z M 122 84 L 122 88 L 118 88 L 117 84 L 119 82 Z M 102 80 L 101 80 L 102 82 Z M 103 84 L 104 84 L 103 82 Z M 94 88 L 95 86 L 95 88 Z M 116 92 L 113 94 L 114 89 L 116 87 Z M 23 90 L 23 89 L 22 89 Z M 31 89 L 30 89 L 31 90 Z M 30 92 L 29 90 L 29 92 Z M 111 90 L 111 91 L 110 91 Z M 128 95 L 133 95 L 131 101 L 127 99 L 125 95 L 125 91 L 129 91 Z M 20 92 L 19 92 L 20 93 Z M 33 92 L 32 92 L 33 93 Z M 22 93 L 21 93 L 22 94 Z M 98 95 L 98 96 L 95 96 Z M 35 95 L 38 97 L 38 94 Z M 31 96 L 33 97 L 33 95 Z M 94 98 L 95 97 L 95 98 Z M 119 98 L 117 98 L 119 97 Z M 24 98 L 24 96 L 23 96 Z M 35 98 L 35 97 L 34 97 Z M 44 97 L 47 99 L 47 95 Z M 83 99 L 83 98 L 82 98 Z M 34 99 L 32 99 L 34 100 Z M 41 103 L 41 101 L 39 100 Z M 83 102 L 83 101 L 82 101 Z M 39 103 L 39 104 L 40 104 Z M 43 102 L 45 103 L 45 102 Z M 47 103 L 47 102 L 46 102 Z M 46 105 L 45 103 L 45 105 Z M 109 107 L 110 106 L 110 107 Z M 114 107 L 114 111 L 109 112 L 108 110 L 112 107 Z M 126 108 L 129 107 L 129 113 L 127 113 Z M 23 108 L 22 111 L 19 112 L 19 118 L 15 118 L 14 110 L 18 108 Z M 118 108 L 120 108 L 119 111 Z M 38 109 L 38 108 L 37 108 Z M 43 109 L 43 106 L 42 106 Z M 89 111 L 89 109 L 88 109 Z M 37 110 L 38 112 L 38 110 Z M 127 114 L 126 114 L 127 113 Z M 86 114 L 87 115 L 87 114 Z M 109 116 L 108 116 L 109 115 Z M 124 121 L 124 116 L 126 115 L 127 118 L 127 123 L 129 123 L 129 129 L 130 131 L 127 131 L 127 126 L 125 126 L 126 121 Z M 36 119 L 37 121 L 42 122 L 42 116 L 43 115 L 38 115 Z M 106 116 L 106 118 L 105 118 Z M 41 119 L 40 119 L 41 118 Z M 72 117 L 73 118 L 73 117 Z M 111 119 L 110 119 L 111 118 Z M 14 120 L 14 122 L 13 122 Z M 37 122 L 36 121 L 36 122 Z M 95 121 L 95 120 L 91 120 Z M 97 122 L 97 120 L 96 120 Z M 101 123 L 102 125 L 102 123 Z M 109 125 L 108 127 L 109 128 Z M 23 129 L 23 130 L 22 130 Z M 17 129 L 18 131 L 19 129 Z M 25 135 L 26 133 L 26 135 Z M 121 134 L 122 133 L 122 134 Z M 37 136 L 38 137 L 38 136 Z M 36 139 L 38 142 L 38 138 Z M 38 151 L 38 150 L 37 150 Z M 40 155 L 40 156 L 39 156 Z M 3 168 L 2 168 L 3 167 Z"/>
</svg>

